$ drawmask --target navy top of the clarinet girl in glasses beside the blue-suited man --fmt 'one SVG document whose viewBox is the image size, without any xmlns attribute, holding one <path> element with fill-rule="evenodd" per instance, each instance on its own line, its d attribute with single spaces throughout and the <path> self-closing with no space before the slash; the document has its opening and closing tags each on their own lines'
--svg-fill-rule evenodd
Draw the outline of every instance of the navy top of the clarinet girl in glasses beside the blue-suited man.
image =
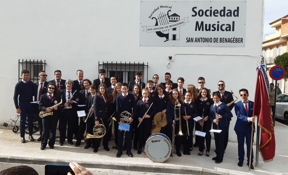
<svg viewBox="0 0 288 175">
<path fill-rule="evenodd" d="M 215 104 L 211 105 L 210 114 L 209 114 L 209 119 L 212 122 L 216 118 L 214 105 Z M 220 105 L 217 106 L 217 114 L 222 115 L 222 118 L 219 118 L 219 123 L 218 123 L 219 126 L 227 126 L 227 118 L 233 117 L 230 109 L 224 103 L 221 103 Z M 213 122 L 213 125 L 216 125 L 216 123 Z"/>
</svg>

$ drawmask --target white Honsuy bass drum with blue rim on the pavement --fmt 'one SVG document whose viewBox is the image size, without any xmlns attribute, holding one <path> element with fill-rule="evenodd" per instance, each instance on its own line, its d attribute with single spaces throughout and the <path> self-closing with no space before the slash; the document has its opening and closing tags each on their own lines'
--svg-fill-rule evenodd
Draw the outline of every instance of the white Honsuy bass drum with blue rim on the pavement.
<svg viewBox="0 0 288 175">
<path fill-rule="evenodd" d="M 148 137 L 145 144 L 145 154 L 153 162 L 164 162 L 171 154 L 171 141 L 162 133 L 155 133 Z"/>
</svg>

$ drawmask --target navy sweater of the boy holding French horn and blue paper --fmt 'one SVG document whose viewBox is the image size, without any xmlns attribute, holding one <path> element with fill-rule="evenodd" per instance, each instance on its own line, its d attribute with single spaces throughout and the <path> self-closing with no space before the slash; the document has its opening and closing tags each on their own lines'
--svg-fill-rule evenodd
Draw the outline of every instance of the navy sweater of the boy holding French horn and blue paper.
<svg viewBox="0 0 288 175">
<path fill-rule="evenodd" d="M 133 113 L 132 113 L 133 108 Z M 135 102 L 135 96 L 131 93 L 127 93 L 124 97 L 122 94 L 118 95 L 116 98 L 116 120 L 120 122 L 120 114 L 124 111 L 129 112 L 134 119 L 137 113 L 137 106 Z"/>
</svg>

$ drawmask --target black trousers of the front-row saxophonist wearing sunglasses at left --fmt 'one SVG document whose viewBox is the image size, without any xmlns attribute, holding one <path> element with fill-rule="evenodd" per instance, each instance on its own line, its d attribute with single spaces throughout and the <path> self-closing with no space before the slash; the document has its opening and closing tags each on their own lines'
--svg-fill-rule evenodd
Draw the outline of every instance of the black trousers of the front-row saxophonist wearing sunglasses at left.
<svg viewBox="0 0 288 175">
<path fill-rule="evenodd" d="M 58 122 L 58 113 L 54 112 L 53 115 L 47 115 L 42 118 L 43 130 L 42 130 L 42 140 L 41 147 L 46 147 L 47 142 L 49 147 L 54 146 L 56 139 L 56 129 Z M 50 134 L 51 133 L 51 134 Z"/>
</svg>

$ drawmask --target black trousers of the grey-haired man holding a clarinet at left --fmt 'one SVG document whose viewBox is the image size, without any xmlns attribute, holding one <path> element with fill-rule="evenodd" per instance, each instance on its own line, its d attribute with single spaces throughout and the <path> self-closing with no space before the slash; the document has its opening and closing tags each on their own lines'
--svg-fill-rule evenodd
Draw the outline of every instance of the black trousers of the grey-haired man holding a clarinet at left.
<svg viewBox="0 0 288 175">
<path fill-rule="evenodd" d="M 67 141 L 71 142 L 73 140 L 73 126 L 75 126 L 76 117 L 77 115 L 72 108 L 64 109 L 62 112 L 62 115 L 59 117 L 60 142 L 65 142 L 67 126 Z"/>
</svg>

